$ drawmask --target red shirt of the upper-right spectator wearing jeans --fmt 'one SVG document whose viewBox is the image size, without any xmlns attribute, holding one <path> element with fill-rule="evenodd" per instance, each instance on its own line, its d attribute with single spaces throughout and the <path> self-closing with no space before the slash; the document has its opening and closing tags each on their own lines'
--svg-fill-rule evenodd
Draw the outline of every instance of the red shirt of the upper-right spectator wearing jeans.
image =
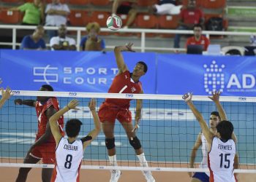
<svg viewBox="0 0 256 182">
<path fill-rule="evenodd" d="M 203 18 L 201 9 L 182 9 L 180 13 L 181 20 L 186 24 L 198 24 L 200 18 Z"/>
</svg>

